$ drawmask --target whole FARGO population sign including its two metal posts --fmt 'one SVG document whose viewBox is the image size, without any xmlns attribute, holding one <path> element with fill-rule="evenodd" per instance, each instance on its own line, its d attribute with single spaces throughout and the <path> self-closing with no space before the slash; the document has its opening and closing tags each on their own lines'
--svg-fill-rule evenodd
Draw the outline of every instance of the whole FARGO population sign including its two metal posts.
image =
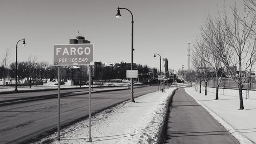
<svg viewBox="0 0 256 144">
<path fill-rule="evenodd" d="M 92 142 L 91 135 L 91 66 L 94 58 L 94 44 L 57 44 L 53 45 L 53 65 L 58 66 L 58 119 L 57 119 L 57 139 L 60 140 L 60 71 L 59 66 L 66 65 L 89 65 L 89 141 Z M 81 71 L 80 71 L 81 73 Z M 81 78 L 81 77 L 80 77 Z"/>
</svg>

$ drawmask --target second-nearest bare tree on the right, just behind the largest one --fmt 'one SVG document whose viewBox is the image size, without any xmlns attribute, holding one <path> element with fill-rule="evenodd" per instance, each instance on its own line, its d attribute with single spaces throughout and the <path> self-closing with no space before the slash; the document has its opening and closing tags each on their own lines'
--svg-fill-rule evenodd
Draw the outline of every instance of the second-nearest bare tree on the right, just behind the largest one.
<svg viewBox="0 0 256 144">
<path fill-rule="evenodd" d="M 224 64 L 221 61 L 219 51 L 227 47 L 226 37 L 227 32 L 222 25 L 222 20 L 219 15 L 217 18 L 213 18 L 210 14 L 205 19 L 204 26 L 201 27 L 201 36 L 203 39 L 204 47 L 203 51 L 208 64 L 215 70 L 216 75 L 216 100 L 219 99 L 219 86 L 221 83 L 220 77 L 222 74 L 219 75 L 220 69 L 223 69 Z"/>
</svg>

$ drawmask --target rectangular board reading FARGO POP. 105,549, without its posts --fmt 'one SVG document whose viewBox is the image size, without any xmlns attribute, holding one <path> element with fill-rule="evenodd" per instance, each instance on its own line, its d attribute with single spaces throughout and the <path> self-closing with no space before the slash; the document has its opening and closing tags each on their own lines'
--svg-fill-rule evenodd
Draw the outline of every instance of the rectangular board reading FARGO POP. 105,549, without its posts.
<svg viewBox="0 0 256 144">
<path fill-rule="evenodd" d="M 93 62 L 92 43 L 53 45 L 54 65 L 91 65 Z"/>
</svg>

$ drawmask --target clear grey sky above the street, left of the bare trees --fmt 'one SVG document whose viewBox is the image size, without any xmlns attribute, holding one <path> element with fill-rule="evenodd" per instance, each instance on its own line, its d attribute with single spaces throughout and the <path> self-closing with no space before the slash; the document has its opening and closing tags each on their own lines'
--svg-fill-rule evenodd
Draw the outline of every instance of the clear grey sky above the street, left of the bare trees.
<svg viewBox="0 0 256 144">
<path fill-rule="evenodd" d="M 169 61 L 170 69 L 187 68 L 188 42 L 200 35 L 203 19 L 217 15 L 218 7 L 227 10 L 242 0 L 0 0 L 0 52 L 11 48 L 10 61 L 36 56 L 37 61 L 53 64 L 53 45 L 68 44 L 70 38 L 82 36 L 94 43 L 94 60 L 131 62 L 131 14 L 117 7 L 130 9 L 134 15 L 134 62 L 150 67 L 160 65 L 158 53 Z M 190 48 L 193 49 L 192 44 Z M 1 56 L 1 55 L 0 55 Z"/>
</svg>

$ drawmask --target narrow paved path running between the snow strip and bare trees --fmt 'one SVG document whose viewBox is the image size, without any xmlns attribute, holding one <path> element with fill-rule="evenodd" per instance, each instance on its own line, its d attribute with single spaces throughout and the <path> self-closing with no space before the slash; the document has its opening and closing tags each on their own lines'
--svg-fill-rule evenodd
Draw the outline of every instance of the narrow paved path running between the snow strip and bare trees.
<svg viewBox="0 0 256 144">
<path fill-rule="evenodd" d="M 165 136 L 164 143 L 239 143 L 184 88 L 174 95 Z"/>
</svg>

